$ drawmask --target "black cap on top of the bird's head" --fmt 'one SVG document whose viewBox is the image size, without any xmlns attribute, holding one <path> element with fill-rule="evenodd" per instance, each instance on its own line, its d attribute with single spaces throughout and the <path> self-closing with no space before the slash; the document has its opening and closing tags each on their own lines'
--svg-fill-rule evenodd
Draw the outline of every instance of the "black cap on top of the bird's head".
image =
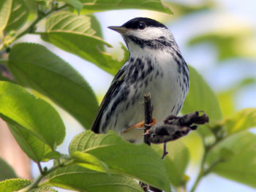
<svg viewBox="0 0 256 192">
<path fill-rule="evenodd" d="M 143 23 L 145 26 L 167 28 L 164 24 L 150 18 L 134 18 L 127 21 L 127 23 L 124 23 L 121 27 L 137 29 L 141 23 Z"/>
</svg>

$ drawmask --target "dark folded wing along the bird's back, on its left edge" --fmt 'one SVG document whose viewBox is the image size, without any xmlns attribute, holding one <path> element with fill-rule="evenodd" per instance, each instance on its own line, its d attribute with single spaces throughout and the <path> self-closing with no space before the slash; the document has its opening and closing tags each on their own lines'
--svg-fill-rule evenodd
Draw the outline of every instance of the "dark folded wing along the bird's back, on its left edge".
<svg viewBox="0 0 256 192">
<path fill-rule="evenodd" d="M 127 73 L 126 66 L 124 65 L 118 71 L 113 81 L 111 82 L 110 88 L 108 89 L 108 92 L 105 94 L 104 99 L 102 100 L 102 103 L 99 106 L 99 110 L 97 112 L 96 118 L 94 119 L 94 122 L 91 125 L 91 131 L 94 131 L 94 133 L 99 134 L 99 123 L 100 123 L 100 120 L 102 119 L 103 111 L 105 110 L 105 107 L 108 106 L 113 92 L 116 90 L 118 85 L 120 85 L 120 83 L 124 81 L 124 76 L 126 73 Z"/>
</svg>

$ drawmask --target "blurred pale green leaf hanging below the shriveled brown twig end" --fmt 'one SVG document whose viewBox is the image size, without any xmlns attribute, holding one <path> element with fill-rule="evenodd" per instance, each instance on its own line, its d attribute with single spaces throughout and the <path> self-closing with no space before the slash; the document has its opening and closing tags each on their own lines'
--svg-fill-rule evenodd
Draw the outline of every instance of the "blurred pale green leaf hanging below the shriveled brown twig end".
<svg viewBox="0 0 256 192">
<path fill-rule="evenodd" d="M 154 150 L 162 155 L 163 145 L 151 145 Z M 170 183 L 176 186 L 184 184 L 184 175 L 189 164 L 189 150 L 179 139 L 167 142 L 167 152 L 164 163 L 170 178 Z"/>
</svg>

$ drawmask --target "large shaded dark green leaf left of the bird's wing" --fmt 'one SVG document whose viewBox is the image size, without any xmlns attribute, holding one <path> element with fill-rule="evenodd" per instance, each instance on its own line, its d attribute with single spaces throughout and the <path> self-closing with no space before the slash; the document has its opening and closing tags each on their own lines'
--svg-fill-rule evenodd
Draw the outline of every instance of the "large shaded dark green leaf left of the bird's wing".
<svg viewBox="0 0 256 192">
<path fill-rule="evenodd" d="M 89 128 L 97 112 L 90 86 L 72 66 L 42 45 L 19 43 L 10 52 L 9 68 L 21 85 L 34 88 Z"/>
</svg>

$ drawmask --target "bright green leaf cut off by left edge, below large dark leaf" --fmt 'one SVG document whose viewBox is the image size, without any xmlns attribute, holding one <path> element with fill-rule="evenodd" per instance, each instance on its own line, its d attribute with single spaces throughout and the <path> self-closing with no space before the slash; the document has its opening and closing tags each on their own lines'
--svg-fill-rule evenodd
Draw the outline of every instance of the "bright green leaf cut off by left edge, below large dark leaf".
<svg viewBox="0 0 256 192">
<path fill-rule="evenodd" d="M 0 82 L 0 116 L 10 125 L 20 147 L 34 161 L 44 159 L 65 137 L 59 113 L 19 85 Z M 24 148 L 26 146 L 26 148 Z M 34 155 L 31 155 L 33 153 Z"/>
</svg>

